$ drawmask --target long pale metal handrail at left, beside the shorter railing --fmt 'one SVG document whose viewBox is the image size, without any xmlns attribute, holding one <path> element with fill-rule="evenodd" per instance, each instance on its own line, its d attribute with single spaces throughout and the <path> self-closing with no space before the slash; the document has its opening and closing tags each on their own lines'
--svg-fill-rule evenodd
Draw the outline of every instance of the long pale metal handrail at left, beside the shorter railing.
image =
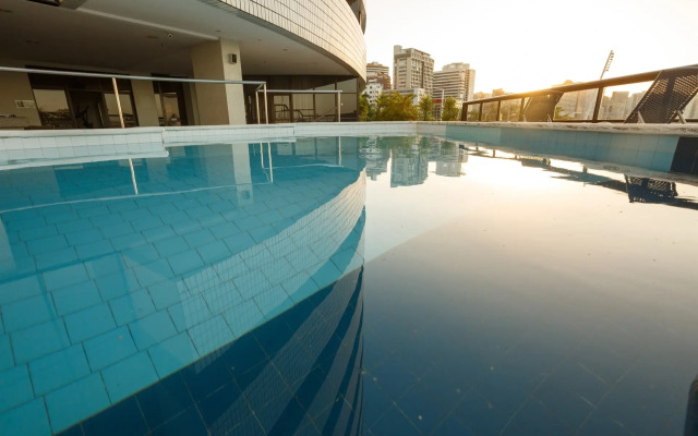
<svg viewBox="0 0 698 436">
<path fill-rule="evenodd" d="M 121 112 L 121 102 L 119 101 L 119 87 L 117 86 L 117 78 L 127 81 L 151 81 L 151 82 L 180 82 L 180 83 L 212 83 L 224 85 L 258 85 L 254 93 L 254 98 L 257 108 L 257 124 L 262 123 L 260 119 L 260 87 L 264 90 L 264 119 L 266 124 L 269 123 L 269 114 L 266 102 L 266 82 L 264 81 L 232 81 L 232 80 L 218 80 L 218 78 L 179 78 L 179 77 L 153 77 L 147 75 L 128 75 L 128 74 L 106 74 L 106 73 L 87 73 L 80 71 L 61 71 L 61 70 L 43 70 L 43 69 L 26 69 L 15 66 L 0 66 L 0 71 L 10 73 L 33 73 L 33 74 L 48 74 L 48 75 L 67 75 L 74 77 L 96 77 L 96 78 L 111 78 L 111 85 L 113 86 L 115 97 L 117 99 L 117 108 L 119 109 L 119 121 L 121 122 L 121 129 L 124 129 L 123 113 Z"/>
</svg>

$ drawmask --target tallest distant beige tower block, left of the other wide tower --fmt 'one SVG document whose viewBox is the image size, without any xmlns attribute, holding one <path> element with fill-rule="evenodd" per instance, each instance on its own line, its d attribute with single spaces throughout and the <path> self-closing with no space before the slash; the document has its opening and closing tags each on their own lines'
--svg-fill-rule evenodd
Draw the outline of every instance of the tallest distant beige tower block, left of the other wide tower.
<svg viewBox="0 0 698 436">
<path fill-rule="evenodd" d="M 422 88 L 432 95 L 434 60 L 423 51 L 395 46 L 393 48 L 393 78 L 396 89 Z"/>
</svg>

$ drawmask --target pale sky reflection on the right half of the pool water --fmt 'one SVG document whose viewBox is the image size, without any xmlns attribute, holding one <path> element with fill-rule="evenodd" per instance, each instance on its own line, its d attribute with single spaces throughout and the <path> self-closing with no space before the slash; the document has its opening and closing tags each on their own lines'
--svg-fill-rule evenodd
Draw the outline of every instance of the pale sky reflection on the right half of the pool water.
<svg viewBox="0 0 698 436">
<path fill-rule="evenodd" d="M 366 391 L 393 392 L 425 433 L 683 434 L 696 186 L 489 155 L 460 178 L 430 162 L 423 183 L 390 187 L 388 161 L 369 181 Z M 399 422 L 369 403 L 374 434 Z"/>
</svg>

